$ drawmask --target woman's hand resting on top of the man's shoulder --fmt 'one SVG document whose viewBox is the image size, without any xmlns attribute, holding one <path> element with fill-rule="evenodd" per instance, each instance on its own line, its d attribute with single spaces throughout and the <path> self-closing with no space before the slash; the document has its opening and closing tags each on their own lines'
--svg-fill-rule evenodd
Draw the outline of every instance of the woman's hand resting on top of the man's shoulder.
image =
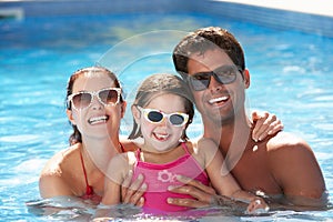
<svg viewBox="0 0 333 222">
<path fill-rule="evenodd" d="M 255 142 L 262 141 L 268 135 L 275 134 L 283 130 L 281 120 L 279 120 L 275 114 L 269 112 L 252 112 L 252 121 L 254 123 L 252 139 Z"/>
</svg>

